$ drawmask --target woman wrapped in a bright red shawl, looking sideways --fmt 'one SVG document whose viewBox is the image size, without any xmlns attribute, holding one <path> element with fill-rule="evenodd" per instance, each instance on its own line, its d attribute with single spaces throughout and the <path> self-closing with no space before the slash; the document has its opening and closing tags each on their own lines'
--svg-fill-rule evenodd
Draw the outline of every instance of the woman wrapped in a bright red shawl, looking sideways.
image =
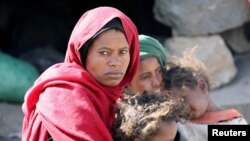
<svg viewBox="0 0 250 141">
<path fill-rule="evenodd" d="M 112 7 L 87 11 L 65 61 L 47 69 L 25 95 L 22 141 L 111 141 L 116 100 L 138 64 L 134 23 Z"/>
</svg>

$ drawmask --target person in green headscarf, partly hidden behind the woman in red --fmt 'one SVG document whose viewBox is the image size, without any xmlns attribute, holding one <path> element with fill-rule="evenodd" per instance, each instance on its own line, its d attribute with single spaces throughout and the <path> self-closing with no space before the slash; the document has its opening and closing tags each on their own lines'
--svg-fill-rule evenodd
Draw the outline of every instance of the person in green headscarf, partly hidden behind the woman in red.
<svg viewBox="0 0 250 141">
<path fill-rule="evenodd" d="M 162 44 L 153 37 L 139 35 L 140 67 L 126 90 L 128 93 L 158 92 L 163 88 L 162 73 L 166 69 L 167 55 Z"/>
</svg>

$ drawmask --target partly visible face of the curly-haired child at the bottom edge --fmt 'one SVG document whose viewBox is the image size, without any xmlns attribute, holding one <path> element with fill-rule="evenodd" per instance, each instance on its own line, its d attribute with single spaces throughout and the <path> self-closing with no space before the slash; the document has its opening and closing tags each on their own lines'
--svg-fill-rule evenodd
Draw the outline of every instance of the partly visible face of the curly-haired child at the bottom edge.
<svg viewBox="0 0 250 141">
<path fill-rule="evenodd" d="M 150 141 L 173 141 L 177 133 L 176 121 L 163 121 L 160 130 Z"/>
</svg>

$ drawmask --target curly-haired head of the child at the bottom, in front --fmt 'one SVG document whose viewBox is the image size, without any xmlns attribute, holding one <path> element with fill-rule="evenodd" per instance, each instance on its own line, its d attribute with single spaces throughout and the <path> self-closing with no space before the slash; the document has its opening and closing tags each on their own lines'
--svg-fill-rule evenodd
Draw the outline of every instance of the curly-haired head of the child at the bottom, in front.
<svg viewBox="0 0 250 141">
<path fill-rule="evenodd" d="M 187 118 L 181 99 L 144 92 L 118 101 L 119 110 L 113 128 L 115 141 L 172 141 L 176 121 Z"/>
</svg>

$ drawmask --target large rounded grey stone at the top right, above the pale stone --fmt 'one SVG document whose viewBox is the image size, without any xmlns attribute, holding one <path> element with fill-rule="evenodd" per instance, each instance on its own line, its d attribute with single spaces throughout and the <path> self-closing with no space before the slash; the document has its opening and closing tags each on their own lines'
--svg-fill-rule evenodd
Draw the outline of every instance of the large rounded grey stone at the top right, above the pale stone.
<svg viewBox="0 0 250 141">
<path fill-rule="evenodd" d="M 153 13 L 179 35 L 198 36 L 236 28 L 249 21 L 246 0 L 156 0 Z"/>
</svg>

